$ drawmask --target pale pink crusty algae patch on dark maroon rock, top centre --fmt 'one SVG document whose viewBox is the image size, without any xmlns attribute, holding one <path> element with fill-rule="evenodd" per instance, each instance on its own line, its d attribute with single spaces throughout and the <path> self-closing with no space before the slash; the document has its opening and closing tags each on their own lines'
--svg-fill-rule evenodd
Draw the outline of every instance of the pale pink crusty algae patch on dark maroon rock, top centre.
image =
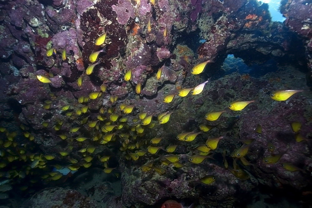
<svg viewBox="0 0 312 208">
<path fill-rule="evenodd" d="M 119 0 L 117 5 L 112 5 L 112 9 L 117 13 L 118 22 L 126 24 L 130 17 L 134 18 L 134 10 L 130 2 Z"/>
</svg>

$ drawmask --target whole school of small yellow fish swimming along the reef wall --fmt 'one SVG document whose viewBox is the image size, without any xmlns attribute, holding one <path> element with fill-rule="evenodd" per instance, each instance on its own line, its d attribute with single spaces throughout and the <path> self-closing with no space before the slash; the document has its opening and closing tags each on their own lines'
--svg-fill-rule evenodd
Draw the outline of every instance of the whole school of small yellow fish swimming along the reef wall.
<svg viewBox="0 0 312 208">
<path fill-rule="evenodd" d="M 147 30 L 151 32 L 151 17 L 149 17 L 147 23 Z M 103 45 L 105 44 L 105 39 L 109 35 L 109 30 L 106 30 L 103 35 L 100 35 L 95 40 L 95 45 Z M 167 26 L 165 27 L 163 36 L 164 38 L 167 35 Z M 46 56 L 50 57 L 53 54 L 56 54 L 56 47 L 54 46 L 51 49 L 47 50 Z M 83 85 L 83 77 L 85 75 L 91 75 L 94 71 L 95 67 L 100 64 L 99 56 L 102 52 L 105 52 L 105 46 L 102 50 L 93 51 L 90 54 L 89 61 L 90 65 L 86 68 L 85 72 L 78 78 L 77 85 L 81 87 Z M 62 50 L 61 57 L 63 60 L 66 60 L 66 48 Z M 95 63 L 96 62 L 96 63 Z M 191 73 L 194 75 L 200 74 L 207 67 L 208 63 L 211 63 L 212 59 L 209 59 L 205 62 L 196 64 Z M 94 64 L 92 64 L 94 63 Z M 50 75 L 50 74 L 49 74 Z M 160 68 L 156 72 L 156 79 L 159 80 L 163 76 L 162 68 Z M 53 83 L 50 76 L 46 75 L 37 75 L 37 79 L 42 83 Z M 124 81 L 131 80 L 131 70 L 128 70 L 124 74 Z M 191 95 L 198 95 L 202 93 L 205 85 L 210 81 L 207 81 L 196 85 L 195 87 L 184 87 L 178 90 L 176 93 L 168 94 L 163 98 L 163 102 L 170 103 L 173 102 L 175 96 L 186 97 L 189 93 Z M 141 93 L 142 90 L 141 82 L 138 82 L 135 87 L 135 92 L 137 94 Z M 108 108 L 99 107 L 98 115 L 96 118 L 91 117 L 88 112 L 89 106 L 88 102 L 90 100 L 100 99 L 103 93 L 107 93 L 108 85 L 103 83 L 100 86 L 99 92 L 91 92 L 88 95 L 81 95 L 77 101 L 67 103 L 62 106 L 59 110 L 63 111 L 63 114 L 67 116 L 66 120 L 57 119 L 55 115 L 55 122 L 47 122 L 42 121 L 42 128 L 53 128 L 55 131 L 60 131 L 64 124 L 71 124 L 73 120 L 79 121 L 79 124 L 71 126 L 69 131 L 64 134 L 60 133 L 59 139 L 66 140 L 68 145 L 62 151 L 59 151 L 58 157 L 62 158 L 62 164 L 59 165 L 58 161 L 55 160 L 56 155 L 47 155 L 41 152 L 38 152 L 33 148 L 33 140 L 35 139 L 35 135 L 32 132 L 27 131 L 27 128 L 24 125 L 21 125 L 21 130 L 25 138 L 29 139 L 29 142 L 23 144 L 22 146 L 15 141 L 15 137 L 17 132 L 9 132 L 6 128 L 0 127 L 0 134 L 2 135 L 2 139 L 0 139 L 0 177 L 7 178 L 24 178 L 27 175 L 36 175 L 36 169 L 41 169 L 39 172 L 40 178 L 46 181 L 51 180 L 59 180 L 63 177 L 62 173 L 57 171 L 51 171 L 51 168 L 54 167 L 56 169 L 61 168 L 69 168 L 71 171 L 76 171 L 79 168 L 89 168 L 92 166 L 93 162 L 96 161 L 103 166 L 103 171 L 105 173 L 113 173 L 116 177 L 119 177 L 118 168 L 109 167 L 109 160 L 112 155 L 105 155 L 98 153 L 97 149 L 100 149 L 100 145 L 108 145 L 114 143 L 115 145 L 119 145 L 119 150 L 123 151 L 124 157 L 127 160 L 138 161 L 140 158 L 143 158 L 146 154 L 157 154 L 159 155 L 159 151 L 163 151 L 161 156 L 156 159 L 149 161 L 140 167 L 142 172 L 148 172 L 154 170 L 159 174 L 165 174 L 166 171 L 161 168 L 161 165 L 173 165 L 176 168 L 188 168 L 192 163 L 200 164 L 203 163 L 207 158 L 213 159 L 214 152 L 218 148 L 218 144 L 221 139 L 225 138 L 226 135 L 222 135 L 217 138 L 208 138 L 205 144 L 197 144 L 192 152 L 196 153 L 191 155 L 188 158 L 189 164 L 183 164 L 180 162 L 180 156 L 176 153 L 176 150 L 179 145 L 183 144 L 179 142 L 178 144 L 171 144 L 167 147 L 160 146 L 161 141 L 165 140 L 164 137 L 156 136 L 152 139 L 145 139 L 145 132 L 149 128 L 154 128 L 156 125 L 166 124 L 170 121 L 170 117 L 174 114 L 174 111 L 166 111 L 161 112 L 156 115 L 155 112 L 151 111 L 142 111 L 137 115 L 133 114 L 134 109 L 136 108 L 135 104 L 128 103 L 127 101 L 116 104 L 118 100 L 118 96 L 111 95 L 110 102 L 111 106 Z M 271 98 L 276 101 L 286 101 L 291 96 L 298 92 L 303 92 L 303 90 L 277 90 L 272 92 Z M 42 108 L 46 110 L 55 109 L 54 103 L 58 99 L 56 96 L 57 93 L 49 93 L 51 97 L 50 100 L 46 100 L 42 103 Z M 248 100 L 245 98 L 241 98 L 239 100 L 233 101 L 228 104 L 228 109 L 220 109 L 219 111 L 211 111 L 207 112 L 204 116 L 208 121 L 217 121 L 223 113 L 227 111 L 242 111 L 251 103 L 257 103 L 257 99 Z M 158 124 L 154 117 L 157 116 Z M 170 122 L 168 123 L 170 125 Z M 296 142 L 308 141 L 305 137 L 300 135 L 301 124 L 299 122 L 293 122 L 291 127 L 295 133 Z M 206 134 L 205 132 L 210 131 L 213 128 L 217 128 L 217 126 L 205 125 L 201 124 L 198 126 L 199 130 L 193 130 L 190 132 L 181 132 L 176 136 L 177 141 L 183 142 L 194 142 L 197 135 Z M 84 134 L 85 131 L 88 131 L 88 134 Z M 61 131 L 60 131 L 61 132 Z M 261 125 L 258 125 L 255 129 L 255 133 L 261 134 L 262 129 Z M 86 136 L 91 135 L 91 136 Z M 243 166 L 254 165 L 250 163 L 245 156 L 249 153 L 249 149 L 253 144 L 253 140 L 244 140 L 241 141 L 242 145 L 238 149 L 234 149 L 232 153 L 229 153 L 232 159 L 231 165 L 228 163 L 227 153 L 223 151 L 223 163 L 224 168 L 228 169 L 235 177 L 245 180 L 250 178 L 250 175 L 246 173 L 244 169 L 241 168 L 240 165 L 237 164 L 238 161 Z M 77 143 L 77 144 L 74 144 Z M 80 149 L 76 149 L 79 147 Z M 268 150 L 270 152 L 274 151 L 274 144 L 268 144 Z M 72 156 L 73 152 L 80 153 L 80 159 L 74 158 Z M 96 153 L 96 154 L 95 154 Z M 279 159 L 285 154 L 285 152 L 281 152 L 278 154 L 271 154 L 263 158 L 263 162 L 267 164 L 275 164 L 279 161 Z M 6 167 L 10 166 L 14 163 L 14 161 L 22 161 L 24 165 L 22 167 L 14 167 L 10 170 L 4 170 Z M 282 167 L 287 171 L 303 171 L 296 167 L 291 163 L 282 163 Z M 197 176 L 198 177 L 198 176 Z M 216 180 L 216 176 L 207 175 L 204 177 L 198 178 L 198 182 L 203 184 L 211 184 Z M 33 177 L 30 182 L 36 183 L 39 179 Z M 20 186 L 21 190 L 26 190 L 27 186 Z"/>
</svg>

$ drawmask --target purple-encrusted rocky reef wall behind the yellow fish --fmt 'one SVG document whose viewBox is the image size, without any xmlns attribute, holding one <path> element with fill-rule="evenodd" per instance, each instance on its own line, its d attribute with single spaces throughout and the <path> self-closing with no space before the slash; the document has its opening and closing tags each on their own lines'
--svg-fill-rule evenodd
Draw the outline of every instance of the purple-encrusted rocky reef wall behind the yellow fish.
<svg viewBox="0 0 312 208">
<path fill-rule="evenodd" d="M 0 155 L 4 155 L 0 175 L 11 177 L 14 190 L 26 187 L 24 192 L 10 192 L 10 197 L 33 195 L 24 207 L 103 207 L 104 203 L 108 207 L 160 207 L 168 199 L 232 207 L 256 200 L 261 184 L 269 195 L 286 190 L 300 193 L 294 196 L 300 205 L 311 203 L 311 92 L 298 92 L 285 102 L 270 98 L 275 90 L 305 89 L 306 82 L 311 84 L 310 3 L 282 1 L 286 21 L 279 23 L 271 21 L 267 4 L 256 0 L 152 2 L 0 1 Z M 105 31 L 105 42 L 95 45 Z M 52 47 L 56 52 L 47 56 Z M 96 62 L 90 62 L 90 54 L 104 47 L 96 60 L 100 63 L 87 75 L 85 69 Z M 228 73 L 221 67 L 228 54 L 256 70 L 242 74 L 236 67 L 240 73 L 234 69 Z M 195 64 L 209 59 L 203 73 L 191 73 Z M 266 61 L 272 60 L 280 70 L 264 73 L 271 67 Z M 37 75 L 51 83 L 40 82 Z M 195 87 L 210 77 L 212 81 L 199 95 L 178 96 L 184 87 Z M 92 92 L 98 97 L 92 99 Z M 173 101 L 163 102 L 170 94 L 175 94 Z M 237 99 L 256 97 L 258 102 L 243 111 L 228 110 L 229 103 Z M 125 114 L 123 105 L 135 107 Z M 66 106 L 68 110 L 62 109 Z M 204 117 L 223 109 L 227 111 L 217 121 Z M 154 118 L 150 125 L 142 125 L 138 119 L 141 112 L 156 117 L 167 111 L 173 113 L 165 124 Z M 114 121 L 111 116 L 118 118 Z M 119 122 L 121 117 L 127 122 Z M 295 121 L 302 124 L 298 132 L 290 126 Z M 201 124 L 216 128 L 201 132 L 191 142 L 177 139 L 181 132 L 199 132 Z M 105 129 L 111 125 L 111 131 Z M 261 134 L 254 132 L 257 125 L 262 127 Z M 74 127 L 80 128 L 75 132 Z M 189 160 L 194 154 L 206 154 L 195 150 L 197 145 L 221 135 L 224 138 L 212 151 L 213 159 L 201 164 Z M 161 147 L 157 154 L 135 153 L 147 151 L 154 137 L 164 137 L 152 144 Z M 296 142 L 298 138 L 303 141 Z M 245 166 L 231 154 L 249 139 L 253 142 L 244 158 L 252 165 Z M 185 167 L 160 163 L 171 144 L 178 144 L 172 154 L 179 155 Z M 268 148 L 271 144 L 274 151 Z M 274 164 L 263 160 L 280 153 Z M 108 155 L 108 161 L 101 159 Z M 36 157 L 38 166 L 30 168 Z M 154 169 L 142 171 L 147 163 Z M 282 163 L 299 171 L 289 171 Z M 58 175 L 59 166 L 79 169 L 75 179 L 70 179 L 72 174 Z M 106 167 L 115 169 L 107 174 L 102 171 Z M 247 175 L 241 178 L 238 173 Z M 103 175 L 111 177 L 88 185 Z M 216 180 L 208 185 L 198 181 L 207 175 Z M 117 187 L 120 193 L 116 194 L 115 185 L 101 180 L 119 182 L 122 190 Z M 47 184 L 51 187 L 39 190 Z M 53 187 L 62 185 L 68 187 Z"/>
</svg>

